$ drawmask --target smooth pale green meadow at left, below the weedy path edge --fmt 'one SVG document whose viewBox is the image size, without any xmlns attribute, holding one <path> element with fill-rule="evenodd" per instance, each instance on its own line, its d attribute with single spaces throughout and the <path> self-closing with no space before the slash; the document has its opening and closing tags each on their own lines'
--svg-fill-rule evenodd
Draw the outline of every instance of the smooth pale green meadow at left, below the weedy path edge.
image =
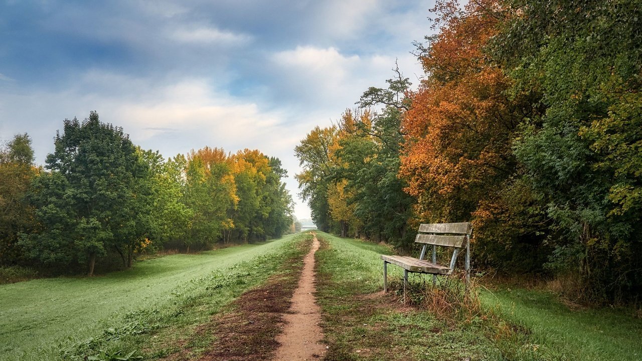
<svg viewBox="0 0 642 361">
<path fill-rule="evenodd" d="M 291 248 L 288 245 L 293 238 L 164 256 L 105 276 L 35 279 L 0 285 L 0 360 L 56 359 L 58 349 L 101 330 L 121 326 L 132 312 L 162 311 L 197 294 L 202 279 L 238 273 L 239 268 L 245 269 L 239 265 L 251 265 L 269 254 L 284 254 Z M 270 259 L 278 260 L 281 258 Z M 258 273 L 249 272 L 248 279 L 241 274 L 237 288 L 248 288 L 269 274 Z M 222 297 L 218 304 L 229 302 L 234 296 L 223 290 L 218 294 L 211 295 Z"/>
</svg>

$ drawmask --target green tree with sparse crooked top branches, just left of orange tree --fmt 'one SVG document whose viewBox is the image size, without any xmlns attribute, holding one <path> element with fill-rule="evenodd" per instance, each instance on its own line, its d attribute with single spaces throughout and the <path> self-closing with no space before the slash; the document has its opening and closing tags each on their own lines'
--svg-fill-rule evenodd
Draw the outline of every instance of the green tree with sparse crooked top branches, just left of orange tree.
<svg viewBox="0 0 642 361">
<path fill-rule="evenodd" d="M 341 177 L 347 180 L 351 195 L 347 203 L 354 207 L 363 236 L 408 250 L 412 245 L 408 220 L 414 200 L 404 192 L 405 180 L 397 177 L 403 104 L 386 104 L 379 113 L 356 117 L 354 132 L 339 142 L 338 156 L 344 163 Z"/>
</svg>

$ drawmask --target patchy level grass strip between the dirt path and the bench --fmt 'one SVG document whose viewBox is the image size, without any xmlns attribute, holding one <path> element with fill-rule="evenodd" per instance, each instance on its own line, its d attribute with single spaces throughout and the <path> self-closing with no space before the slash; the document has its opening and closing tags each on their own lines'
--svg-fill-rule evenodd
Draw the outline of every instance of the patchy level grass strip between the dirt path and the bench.
<svg viewBox="0 0 642 361">
<path fill-rule="evenodd" d="M 379 254 L 390 249 L 318 233 L 319 303 L 324 313 L 325 360 L 493 360 L 499 353 L 474 324 L 453 326 L 429 312 L 404 308 L 383 288 Z M 388 276 L 401 279 L 399 267 Z"/>
</svg>

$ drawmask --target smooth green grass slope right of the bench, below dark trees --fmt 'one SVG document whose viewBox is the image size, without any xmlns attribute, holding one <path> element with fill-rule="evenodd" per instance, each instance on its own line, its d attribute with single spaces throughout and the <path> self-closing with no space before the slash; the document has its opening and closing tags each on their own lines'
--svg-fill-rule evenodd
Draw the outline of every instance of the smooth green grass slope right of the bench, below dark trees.
<svg viewBox="0 0 642 361">
<path fill-rule="evenodd" d="M 642 320 L 621 309 L 578 309 L 552 292 L 500 288 L 482 294 L 486 306 L 531 332 L 532 344 L 558 359 L 642 360 Z M 557 350 L 557 351 L 553 351 Z"/>
</svg>

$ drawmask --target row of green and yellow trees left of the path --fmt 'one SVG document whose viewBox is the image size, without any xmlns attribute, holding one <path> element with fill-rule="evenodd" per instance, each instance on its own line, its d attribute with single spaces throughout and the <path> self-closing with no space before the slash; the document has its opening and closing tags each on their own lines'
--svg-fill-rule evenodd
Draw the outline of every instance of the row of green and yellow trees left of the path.
<svg viewBox="0 0 642 361">
<path fill-rule="evenodd" d="M 207 249 L 290 232 L 281 161 L 205 146 L 165 159 L 135 146 L 97 112 L 65 119 L 44 168 L 28 134 L 0 152 L 0 265 L 132 267 L 142 252 Z"/>
</svg>

